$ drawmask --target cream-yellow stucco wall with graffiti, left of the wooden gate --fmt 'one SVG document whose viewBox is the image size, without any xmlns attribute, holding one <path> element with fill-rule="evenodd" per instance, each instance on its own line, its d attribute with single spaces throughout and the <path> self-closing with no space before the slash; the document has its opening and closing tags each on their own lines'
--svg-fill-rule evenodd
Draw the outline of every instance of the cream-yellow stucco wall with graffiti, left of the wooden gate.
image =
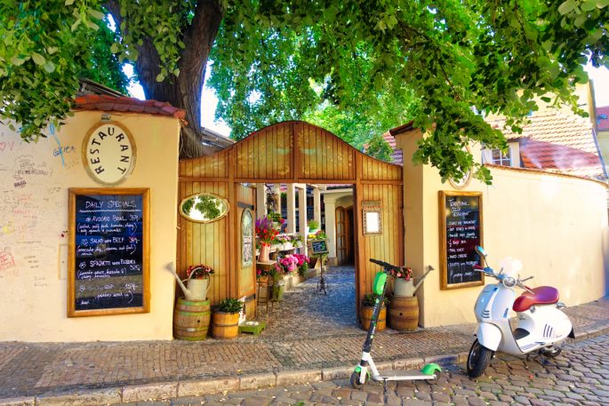
<svg viewBox="0 0 609 406">
<path fill-rule="evenodd" d="M 172 338 L 174 279 L 164 269 L 176 253 L 180 123 L 172 117 L 112 114 L 137 147 L 134 170 L 117 187 L 150 188 L 150 313 L 67 317 L 68 187 L 101 187 L 81 158 L 100 115 L 76 112 L 36 144 L 0 127 L 0 340 Z"/>
</svg>

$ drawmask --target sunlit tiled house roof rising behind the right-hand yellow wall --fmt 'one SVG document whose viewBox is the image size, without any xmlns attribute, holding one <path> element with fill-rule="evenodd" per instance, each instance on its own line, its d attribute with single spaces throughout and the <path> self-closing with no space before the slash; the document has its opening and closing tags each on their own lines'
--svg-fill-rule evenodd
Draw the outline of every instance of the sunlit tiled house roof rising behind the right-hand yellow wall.
<svg viewBox="0 0 609 406">
<path fill-rule="evenodd" d="M 589 121 L 558 112 L 545 112 L 529 119 L 531 123 L 523 126 L 522 134 L 503 131 L 506 138 L 518 141 L 524 168 L 604 178 Z M 489 123 L 501 129 L 504 121 L 493 119 Z"/>
</svg>

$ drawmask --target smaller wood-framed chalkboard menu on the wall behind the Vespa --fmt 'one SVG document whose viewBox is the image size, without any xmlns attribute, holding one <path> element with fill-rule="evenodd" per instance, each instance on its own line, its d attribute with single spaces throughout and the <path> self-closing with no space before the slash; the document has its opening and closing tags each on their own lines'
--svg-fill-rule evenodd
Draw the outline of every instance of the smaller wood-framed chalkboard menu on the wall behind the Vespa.
<svg viewBox="0 0 609 406">
<path fill-rule="evenodd" d="M 441 289 L 483 285 L 476 246 L 482 245 L 482 194 L 440 191 Z"/>
</svg>

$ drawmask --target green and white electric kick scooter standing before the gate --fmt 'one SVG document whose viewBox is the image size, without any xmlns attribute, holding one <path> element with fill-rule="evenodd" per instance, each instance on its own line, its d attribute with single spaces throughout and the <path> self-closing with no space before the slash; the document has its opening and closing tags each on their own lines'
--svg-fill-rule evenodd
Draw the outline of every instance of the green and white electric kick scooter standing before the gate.
<svg viewBox="0 0 609 406">
<path fill-rule="evenodd" d="M 379 371 L 376 369 L 373 356 L 370 352 L 373 349 L 374 332 L 376 331 L 376 322 L 378 322 L 379 314 L 381 313 L 381 304 L 387 291 L 387 276 L 392 269 L 401 271 L 402 267 L 396 267 L 378 259 L 370 259 L 370 262 L 380 265 L 383 267 L 383 270 L 376 274 L 376 277 L 374 278 L 373 292 L 377 297 L 374 299 L 373 318 L 370 321 L 368 335 L 365 338 L 362 361 L 359 362 L 359 365 L 357 365 L 356 369 L 351 374 L 351 385 L 356 389 L 359 389 L 364 386 L 368 381 L 368 378 L 372 378 L 373 381 L 376 382 L 383 381 L 385 389 L 387 389 L 387 382 L 392 380 L 432 380 L 439 378 L 442 369 L 437 363 L 428 363 L 422 370 Z"/>
</svg>

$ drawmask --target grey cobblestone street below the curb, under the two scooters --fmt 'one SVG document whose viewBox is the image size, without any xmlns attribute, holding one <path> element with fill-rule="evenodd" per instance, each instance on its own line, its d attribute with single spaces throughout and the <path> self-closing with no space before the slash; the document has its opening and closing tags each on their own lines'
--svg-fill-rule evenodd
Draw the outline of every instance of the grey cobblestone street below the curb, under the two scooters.
<svg viewBox="0 0 609 406">
<path fill-rule="evenodd" d="M 603 335 L 565 346 L 563 354 L 554 360 L 526 361 L 502 356 L 493 359 L 486 375 L 478 379 L 468 378 L 464 365 L 451 365 L 432 384 L 391 383 L 387 392 L 380 383 L 369 383 L 357 390 L 343 379 L 138 405 L 607 405 L 607 348 L 609 335 Z"/>
</svg>

